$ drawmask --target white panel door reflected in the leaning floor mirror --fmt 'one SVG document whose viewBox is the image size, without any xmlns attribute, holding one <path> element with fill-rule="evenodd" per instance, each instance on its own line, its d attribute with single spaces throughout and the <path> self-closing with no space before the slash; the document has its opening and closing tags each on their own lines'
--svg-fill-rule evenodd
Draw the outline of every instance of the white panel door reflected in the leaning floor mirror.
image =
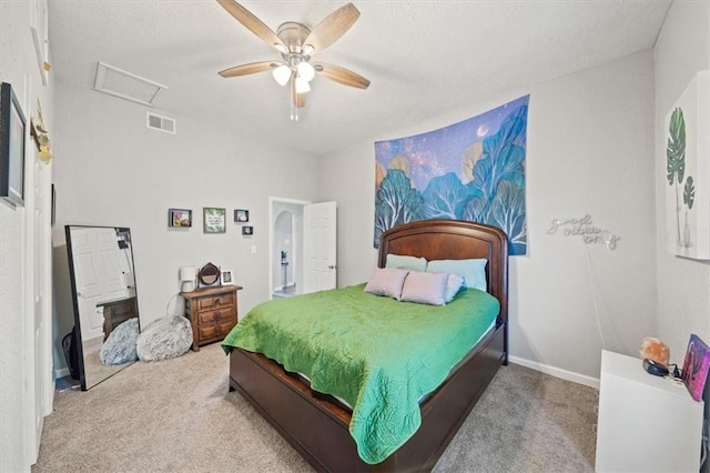
<svg viewBox="0 0 710 473">
<path fill-rule="evenodd" d="M 112 228 L 72 228 L 71 251 L 81 338 L 85 343 L 103 336 L 103 311 L 97 304 L 129 296 L 121 276 L 125 256 Z"/>
</svg>

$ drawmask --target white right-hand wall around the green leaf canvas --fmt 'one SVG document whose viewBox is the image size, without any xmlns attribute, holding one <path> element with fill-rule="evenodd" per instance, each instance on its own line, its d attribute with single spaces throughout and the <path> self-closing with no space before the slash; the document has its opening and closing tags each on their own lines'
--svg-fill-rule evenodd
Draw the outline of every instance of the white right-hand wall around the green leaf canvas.
<svg viewBox="0 0 710 473">
<path fill-rule="evenodd" d="M 677 258 L 667 250 L 665 120 L 696 73 L 710 69 L 710 2 L 673 2 L 658 38 L 655 59 L 658 332 L 670 346 L 671 359 L 682 364 L 691 333 L 710 343 L 710 262 Z M 704 200 L 708 201 L 707 195 Z"/>
</svg>

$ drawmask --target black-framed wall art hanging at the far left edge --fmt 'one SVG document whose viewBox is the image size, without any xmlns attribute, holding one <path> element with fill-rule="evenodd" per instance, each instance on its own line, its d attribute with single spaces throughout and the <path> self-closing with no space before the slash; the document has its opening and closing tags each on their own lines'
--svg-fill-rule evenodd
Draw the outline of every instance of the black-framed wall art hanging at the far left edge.
<svg viewBox="0 0 710 473">
<path fill-rule="evenodd" d="M 0 198 L 24 205 L 24 114 L 12 85 L 0 88 Z"/>
</svg>

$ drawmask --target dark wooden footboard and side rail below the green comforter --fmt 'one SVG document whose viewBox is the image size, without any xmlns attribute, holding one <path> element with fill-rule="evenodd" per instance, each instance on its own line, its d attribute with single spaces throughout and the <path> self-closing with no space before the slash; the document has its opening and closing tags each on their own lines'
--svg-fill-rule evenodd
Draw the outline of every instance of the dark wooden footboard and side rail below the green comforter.
<svg viewBox="0 0 710 473">
<path fill-rule="evenodd" d="M 314 393 L 296 375 L 257 353 L 234 349 L 230 389 L 239 391 L 318 471 L 429 471 L 480 394 L 506 361 L 505 324 L 489 333 L 468 359 L 422 404 L 422 426 L 377 465 L 357 455 L 348 432 L 351 413 Z"/>
</svg>

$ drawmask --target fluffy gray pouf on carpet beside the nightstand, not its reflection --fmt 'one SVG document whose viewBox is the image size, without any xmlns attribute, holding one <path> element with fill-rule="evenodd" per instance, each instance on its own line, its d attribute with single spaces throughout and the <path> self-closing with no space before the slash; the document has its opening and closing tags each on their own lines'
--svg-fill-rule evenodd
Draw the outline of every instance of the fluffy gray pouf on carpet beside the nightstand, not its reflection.
<svg viewBox="0 0 710 473">
<path fill-rule="evenodd" d="M 138 358 L 159 361 L 178 358 L 192 346 L 192 326 L 184 316 L 166 316 L 151 322 L 138 338 Z"/>
</svg>

